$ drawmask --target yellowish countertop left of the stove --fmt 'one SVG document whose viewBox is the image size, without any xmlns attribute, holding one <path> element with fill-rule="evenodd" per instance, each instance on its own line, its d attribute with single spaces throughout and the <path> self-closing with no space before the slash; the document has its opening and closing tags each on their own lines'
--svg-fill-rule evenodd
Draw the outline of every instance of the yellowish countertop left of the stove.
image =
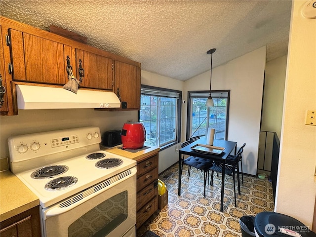
<svg viewBox="0 0 316 237">
<path fill-rule="evenodd" d="M 39 198 L 9 170 L 0 172 L 0 221 L 40 205 Z"/>
</svg>

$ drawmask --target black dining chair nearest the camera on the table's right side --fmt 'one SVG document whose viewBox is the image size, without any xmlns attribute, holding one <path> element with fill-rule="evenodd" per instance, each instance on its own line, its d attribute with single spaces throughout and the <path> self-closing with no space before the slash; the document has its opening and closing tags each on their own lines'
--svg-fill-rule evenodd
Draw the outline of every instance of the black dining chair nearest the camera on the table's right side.
<svg viewBox="0 0 316 237">
<path fill-rule="evenodd" d="M 243 148 L 239 149 L 239 151 L 238 151 L 238 153 L 236 154 L 236 156 L 230 157 L 230 158 L 226 158 L 226 163 L 225 163 L 225 174 L 233 175 L 234 196 L 235 196 L 235 206 L 236 206 L 236 207 L 237 207 L 237 202 L 236 202 L 235 172 L 237 171 L 238 193 L 239 193 L 239 195 L 240 195 L 238 163 L 239 163 L 239 159 L 240 159 L 240 156 L 241 156 L 242 152 L 243 152 Z M 216 163 L 216 162 L 214 162 L 214 164 L 212 165 L 212 167 L 210 167 L 210 168 L 208 169 L 208 171 L 212 171 L 212 173 L 211 173 L 211 186 L 214 185 L 214 181 L 213 181 L 214 172 L 222 173 L 222 168 L 223 168 L 223 164 L 222 164 L 222 163 Z"/>
</svg>

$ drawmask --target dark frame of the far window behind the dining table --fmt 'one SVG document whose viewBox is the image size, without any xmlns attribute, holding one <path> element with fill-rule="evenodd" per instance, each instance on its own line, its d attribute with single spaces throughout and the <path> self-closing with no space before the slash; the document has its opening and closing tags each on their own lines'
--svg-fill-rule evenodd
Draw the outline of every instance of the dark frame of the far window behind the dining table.
<svg viewBox="0 0 316 237">
<path fill-rule="evenodd" d="M 192 135 L 190 135 L 190 132 L 191 132 L 191 123 L 192 123 L 192 114 L 191 114 L 191 100 L 193 99 L 191 97 L 191 94 L 194 94 L 194 93 L 200 93 L 200 94 L 207 94 L 207 96 L 201 96 L 200 98 L 206 98 L 209 96 L 209 90 L 195 90 L 195 91 L 188 91 L 188 103 L 187 103 L 187 131 L 186 131 L 186 140 L 189 140 L 190 137 Z M 211 96 L 213 97 L 214 94 L 218 94 L 218 93 L 227 93 L 227 113 L 226 113 L 226 123 L 225 123 L 225 126 L 226 126 L 226 129 L 225 129 L 225 138 L 224 140 L 227 140 L 227 137 L 228 137 L 228 121 L 229 121 L 229 107 L 230 107 L 230 93 L 231 93 L 231 90 L 211 90 Z M 196 98 L 196 97 L 195 97 Z M 218 98 L 214 95 L 213 98 Z M 209 112 L 209 111 L 207 111 Z M 202 124 L 202 123 L 201 123 Z M 204 136 L 204 135 L 202 135 Z"/>
</svg>

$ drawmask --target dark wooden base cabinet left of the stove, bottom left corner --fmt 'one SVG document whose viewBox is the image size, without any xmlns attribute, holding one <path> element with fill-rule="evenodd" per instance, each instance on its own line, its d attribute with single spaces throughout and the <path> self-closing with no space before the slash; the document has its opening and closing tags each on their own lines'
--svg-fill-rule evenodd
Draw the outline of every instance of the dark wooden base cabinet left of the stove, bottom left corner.
<svg viewBox="0 0 316 237">
<path fill-rule="evenodd" d="M 0 223 L 1 237 L 40 237 L 40 208 L 33 207 Z"/>
</svg>

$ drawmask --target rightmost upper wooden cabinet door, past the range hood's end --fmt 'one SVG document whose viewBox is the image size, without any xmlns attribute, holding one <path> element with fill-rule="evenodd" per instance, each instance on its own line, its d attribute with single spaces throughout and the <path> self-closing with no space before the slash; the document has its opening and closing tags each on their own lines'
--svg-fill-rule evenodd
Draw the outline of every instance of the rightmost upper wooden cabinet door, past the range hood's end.
<svg viewBox="0 0 316 237">
<path fill-rule="evenodd" d="M 140 110 L 140 68 L 115 61 L 114 92 L 122 102 L 122 109 Z M 124 108 L 126 102 L 126 108 Z"/>
</svg>

